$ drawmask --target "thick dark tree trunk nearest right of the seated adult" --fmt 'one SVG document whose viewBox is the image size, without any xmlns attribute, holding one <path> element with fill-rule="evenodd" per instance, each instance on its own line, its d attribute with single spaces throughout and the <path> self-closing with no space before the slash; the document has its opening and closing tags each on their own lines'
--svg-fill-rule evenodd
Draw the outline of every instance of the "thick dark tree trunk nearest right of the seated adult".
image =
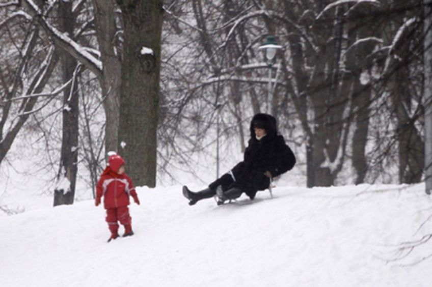
<svg viewBox="0 0 432 287">
<path fill-rule="evenodd" d="M 330 22 L 330 21 L 329 21 Z M 334 169 L 340 147 L 343 101 L 338 100 L 338 73 L 340 57 L 339 29 L 337 25 L 315 25 L 318 51 L 315 57 L 316 75 L 309 87 L 314 110 L 312 160 L 315 186 L 331 186 L 337 177 Z M 328 39 L 333 39 L 329 43 Z"/>
</svg>

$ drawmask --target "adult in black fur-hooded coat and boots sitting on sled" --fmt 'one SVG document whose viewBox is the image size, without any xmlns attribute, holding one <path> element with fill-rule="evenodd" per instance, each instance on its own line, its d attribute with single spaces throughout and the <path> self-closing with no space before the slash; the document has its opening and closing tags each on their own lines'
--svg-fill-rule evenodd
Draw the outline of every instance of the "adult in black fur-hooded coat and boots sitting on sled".
<svg viewBox="0 0 432 287">
<path fill-rule="evenodd" d="M 258 190 L 268 188 L 270 179 L 290 170 L 295 156 L 278 134 L 276 119 L 265 113 L 258 113 L 250 125 L 251 138 L 245 150 L 244 160 L 237 163 L 227 174 L 208 185 L 208 188 L 192 192 L 183 186 L 183 195 L 189 205 L 203 198 L 218 196 L 218 205 L 234 199 L 245 192 L 254 199 Z"/>
</svg>

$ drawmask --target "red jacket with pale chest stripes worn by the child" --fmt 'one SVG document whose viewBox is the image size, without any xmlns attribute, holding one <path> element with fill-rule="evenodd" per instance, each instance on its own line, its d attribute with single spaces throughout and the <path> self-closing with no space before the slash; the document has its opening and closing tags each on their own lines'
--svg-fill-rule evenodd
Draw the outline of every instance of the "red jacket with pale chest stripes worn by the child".
<svg viewBox="0 0 432 287">
<path fill-rule="evenodd" d="M 110 166 L 103 170 L 96 185 L 96 198 L 100 199 L 102 195 L 105 209 L 128 206 L 129 195 L 138 198 L 132 180 L 125 173 L 122 175 L 115 173 Z"/>
</svg>

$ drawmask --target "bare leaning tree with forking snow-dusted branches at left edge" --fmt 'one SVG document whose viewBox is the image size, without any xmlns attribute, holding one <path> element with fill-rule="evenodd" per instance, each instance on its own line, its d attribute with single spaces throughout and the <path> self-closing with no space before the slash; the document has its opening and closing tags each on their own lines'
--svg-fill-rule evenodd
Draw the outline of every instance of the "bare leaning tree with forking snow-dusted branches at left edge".
<svg viewBox="0 0 432 287">
<path fill-rule="evenodd" d="M 12 28 L 9 28 L 9 25 Z M 45 49 L 35 53 L 35 49 L 43 43 L 39 39 L 39 28 L 31 17 L 11 13 L 0 27 L 9 32 L 4 34 L 8 35 L 9 39 L 2 39 L 3 53 L 7 52 L 9 57 L 2 59 L 2 67 L 6 69 L 0 70 L 2 83 L 0 162 L 2 162 L 30 115 L 46 105 L 69 83 L 51 92 L 43 93 L 58 62 L 58 54 L 55 47 L 50 45 L 45 45 Z M 43 103 L 36 108 L 39 98 L 43 99 Z"/>
</svg>

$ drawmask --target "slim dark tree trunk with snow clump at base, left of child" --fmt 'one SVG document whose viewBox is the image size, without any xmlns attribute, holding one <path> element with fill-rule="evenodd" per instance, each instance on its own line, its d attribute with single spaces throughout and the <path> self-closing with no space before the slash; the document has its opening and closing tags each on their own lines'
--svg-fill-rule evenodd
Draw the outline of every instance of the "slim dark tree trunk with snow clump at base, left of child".
<svg viewBox="0 0 432 287">
<path fill-rule="evenodd" d="M 59 2 L 60 30 L 73 35 L 74 19 L 72 2 Z M 73 78 L 72 84 L 63 92 L 63 137 L 58 180 L 66 184 L 56 188 L 54 206 L 73 204 L 75 195 L 76 173 L 78 170 L 78 93 L 74 75 L 77 62 L 67 52 L 61 52 L 63 82 Z"/>
</svg>

